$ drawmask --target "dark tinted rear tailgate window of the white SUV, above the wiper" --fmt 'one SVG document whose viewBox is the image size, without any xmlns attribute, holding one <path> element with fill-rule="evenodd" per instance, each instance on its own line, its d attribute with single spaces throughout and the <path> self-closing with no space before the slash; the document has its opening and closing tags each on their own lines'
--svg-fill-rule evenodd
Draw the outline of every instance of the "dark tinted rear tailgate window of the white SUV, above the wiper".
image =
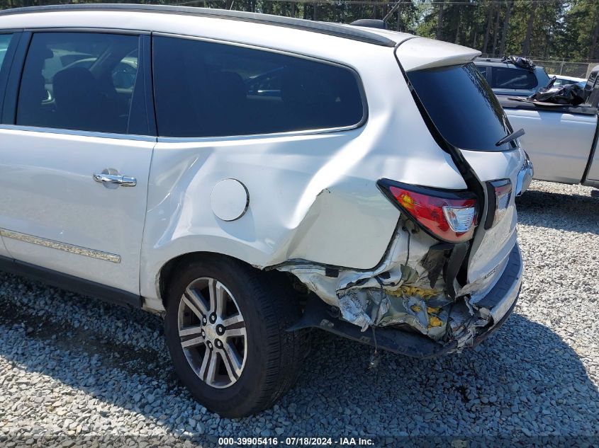
<svg viewBox="0 0 599 448">
<path fill-rule="evenodd" d="M 474 64 L 408 72 L 418 98 L 447 141 L 461 149 L 500 151 L 508 131 L 493 91 Z"/>
</svg>

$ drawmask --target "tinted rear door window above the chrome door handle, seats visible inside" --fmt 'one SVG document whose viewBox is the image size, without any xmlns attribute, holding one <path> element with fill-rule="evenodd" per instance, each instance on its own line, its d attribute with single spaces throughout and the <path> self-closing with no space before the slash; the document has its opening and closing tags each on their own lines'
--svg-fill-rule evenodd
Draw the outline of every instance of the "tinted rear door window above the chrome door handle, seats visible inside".
<svg viewBox="0 0 599 448">
<path fill-rule="evenodd" d="M 137 36 L 35 33 L 17 125 L 125 134 L 137 71 Z"/>
</svg>

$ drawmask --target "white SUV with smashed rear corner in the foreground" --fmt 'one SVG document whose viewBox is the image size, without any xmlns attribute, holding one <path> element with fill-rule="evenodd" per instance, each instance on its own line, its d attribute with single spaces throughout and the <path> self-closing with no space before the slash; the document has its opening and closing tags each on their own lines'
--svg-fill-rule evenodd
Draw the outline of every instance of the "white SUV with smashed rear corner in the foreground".
<svg viewBox="0 0 599 448">
<path fill-rule="evenodd" d="M 289 389 L 306 328 L 475 345 L 515 306 L 530 181 L 477 55 L 235 11 L 3 11 L 0 268 L 162 314 L 227 416 Z"/>
</svg>

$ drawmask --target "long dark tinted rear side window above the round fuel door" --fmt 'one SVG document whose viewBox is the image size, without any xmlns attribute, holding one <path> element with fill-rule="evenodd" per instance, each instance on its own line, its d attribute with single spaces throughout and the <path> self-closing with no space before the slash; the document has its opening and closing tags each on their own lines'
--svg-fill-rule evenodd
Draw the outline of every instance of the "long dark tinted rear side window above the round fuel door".
<svg viewBox="0 0 599 448">
<path fill-rule="evenodd" d="M 158 134 L 218 137 L 356 125 L 354 72 L 274 52 L 154 39 Z"/>
</svg>

